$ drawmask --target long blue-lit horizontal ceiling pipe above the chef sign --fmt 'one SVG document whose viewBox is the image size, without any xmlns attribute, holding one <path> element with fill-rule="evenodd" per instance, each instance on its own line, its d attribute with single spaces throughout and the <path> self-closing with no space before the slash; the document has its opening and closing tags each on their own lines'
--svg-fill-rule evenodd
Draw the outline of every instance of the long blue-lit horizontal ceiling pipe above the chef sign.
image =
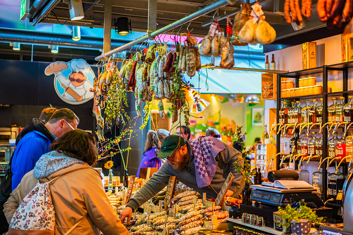
<svg viewBox="0 0 353 235">
<path fill-rule="evenodd" d="M 103 40 L 95 37 L 81 37 L 80 41 L 73 41 L 71 35 L 59 33 L 36 32 L 32 30 L 11 29 L 0 27 L 0 41 L 2 42 L 19 42 L 34 43 L 43 45 L 58 45 L 64 47 L 86 47 L 86 48 L 103 48 Z M 112 40 L 112 47 L 121 47 L 128 40 Z M 144 48 L 143 45 L 135 45 L 131 51 L 137 48 Z"/>
</svg>

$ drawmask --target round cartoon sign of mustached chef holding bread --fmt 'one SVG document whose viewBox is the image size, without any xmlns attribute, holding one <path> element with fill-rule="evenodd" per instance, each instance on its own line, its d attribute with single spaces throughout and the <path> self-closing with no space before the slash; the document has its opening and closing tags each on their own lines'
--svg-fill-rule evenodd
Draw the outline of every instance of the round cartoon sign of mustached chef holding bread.
<svg viewBox="0 0 353 235">
<path fill-rule="evenodd" d="M 95 74 L 91 66 L 83 59 L 73 59 L 69 62 L 57 61 L 46 69 L 47 76 L 54 74 L 56 94 L 69 104 L 83 104 L 93 98 L 89 91 L 93 88 Z"/>
</svg>

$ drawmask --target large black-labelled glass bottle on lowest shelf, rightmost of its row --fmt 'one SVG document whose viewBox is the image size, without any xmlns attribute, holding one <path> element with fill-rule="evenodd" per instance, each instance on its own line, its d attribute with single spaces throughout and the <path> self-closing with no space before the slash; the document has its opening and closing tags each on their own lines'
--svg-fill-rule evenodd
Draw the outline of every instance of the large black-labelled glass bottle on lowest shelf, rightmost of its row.
<svg viewBox="0 0 353 235">
<path fill-rule="evenodd" d="M 336 173 L 328 174 L 328 199 L 333 198 L 333 203 L 342 204 L 342 200 L 336 200 L 337 193 L 342 192 L 347 175 L 341 172 L 341 167 Z"/>
</svg>

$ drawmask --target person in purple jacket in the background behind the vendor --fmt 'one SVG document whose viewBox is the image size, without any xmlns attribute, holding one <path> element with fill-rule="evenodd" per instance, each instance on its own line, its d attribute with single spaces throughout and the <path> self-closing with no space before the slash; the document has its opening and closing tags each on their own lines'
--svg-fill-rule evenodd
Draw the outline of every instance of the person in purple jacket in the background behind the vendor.
<svg viewBox="0 0 353 235">
<path fill-rule="evenodd" d="M 142 161 L 136 177 L 140 176 L 141 167 L 158 167 L 159 169 L 159 167 L 164 163 L 165 160 L 157 158 L 157 155 L 160 152 L 161 142 L 169 135 L 169 131 L 165 129 L 158 129 L 157 132 L 150 130 L 147 133 L 145 150 L 143 152 Z"/>
</svg>

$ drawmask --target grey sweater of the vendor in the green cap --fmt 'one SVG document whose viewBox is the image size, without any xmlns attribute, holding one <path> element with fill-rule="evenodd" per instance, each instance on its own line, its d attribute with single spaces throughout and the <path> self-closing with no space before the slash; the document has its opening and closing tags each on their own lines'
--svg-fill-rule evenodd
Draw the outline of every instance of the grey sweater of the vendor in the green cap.
<svg viewBox="0 0 353 235">
<path fill-rule="evenodd" d="M 217 162 L 216 173 L 211 181 L 211 184 L 204 188 L 199 188 L 196 182 L 194 156 L 192 148 L 188 142 L 186 142 L 189 152 L 189 162 L 185 165 L 182 170 L 173 169 L 172 165 L 166 161 L 159 170 L 153 174 L 151 179 L 146 182 L 140 190 L 130 199 L 126 206 L 131 207 L 133 210 L 140 207 L 142 204 L 151 199 L 156 193 L 167 186 L 169 176 L 176 176 L 177 180 L 185 184 L 189 188 L 193 188 L 200 194 L 207 193 L 206 196 L 216 197 L 221 191 L 224 182 L 227 179 L 229 172 L 232 172 L 235 179 L 230 186 L 230 190 L 234 191 L 233 197 L 239 198 L 239 194 L 245 186 L 245 181 L 240 173 L 235 172 L 235 167 L 232 163 L 237 162 L 238 164 L 244 165 L 244 160 L 238 161 L 238 157 L 241 153 L 233 147 L 226 146 L 226 149 L 221 151 L 215 158 Z"/>
</svg>

